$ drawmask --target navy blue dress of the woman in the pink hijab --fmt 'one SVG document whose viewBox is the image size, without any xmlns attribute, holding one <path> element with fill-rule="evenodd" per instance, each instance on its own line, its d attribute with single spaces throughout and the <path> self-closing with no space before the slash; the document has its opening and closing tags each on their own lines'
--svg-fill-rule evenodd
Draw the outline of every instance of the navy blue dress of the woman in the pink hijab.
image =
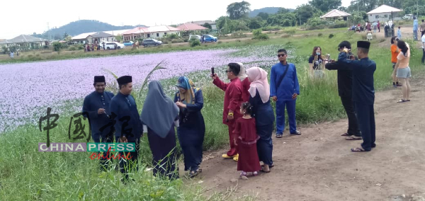
<svg viewBox="0 0 425 201">
<path fill-rule="evenodd" d="M 256 142 L 257 152 L 260 161 L 271 166 L 273 164 L 273 142 L 271 134 L 273 132 L 274 113 L 270 101 L 263 103 L 259 91 L 254 97 L 249 96 L 249 103 L 252 105 L 252 115 L 256 120 L 256 131 L 260 139 Z"/>
</svg>

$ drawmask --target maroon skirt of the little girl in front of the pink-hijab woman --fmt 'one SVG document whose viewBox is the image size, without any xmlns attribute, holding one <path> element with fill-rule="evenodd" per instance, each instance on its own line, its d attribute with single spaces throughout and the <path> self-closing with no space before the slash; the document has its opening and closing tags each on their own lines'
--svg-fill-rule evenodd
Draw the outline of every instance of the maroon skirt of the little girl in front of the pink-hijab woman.
<svg viewBox="0 0 425 201">
<path fill-rule="evenodd" d="M 244 172 L 254 172 L 261 170 L 256 144 L 242 144 L 242 140 L 238 139 L 237 146 L 239 149 L 237 170 Z"/>
</svg>

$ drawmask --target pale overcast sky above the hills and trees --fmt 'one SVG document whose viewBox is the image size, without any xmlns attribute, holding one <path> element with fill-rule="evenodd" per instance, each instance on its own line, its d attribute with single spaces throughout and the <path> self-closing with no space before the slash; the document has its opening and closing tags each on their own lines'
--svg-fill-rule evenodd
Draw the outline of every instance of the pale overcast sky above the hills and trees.
<svg viewBox="0 0 425 201">
<path fill-rule="evenodd" d="M 246 0 L 251 10 L 263 7 L 296 8 L 308 0 Z M 348 6 L 351 0 L 342 0 Z M 42 33 L 72 21 L 97 20 L 112 25 L 170 25 L 188 21 L 215 20 L 226 15 L 228 4 L 235 0 L 215 1 L 106 1 L 106 0 L 21 0 L 2 1 L 0 39 L 21 34 Z M 132 10 L 136 8 L 137 11 Z"/>
</svg>

